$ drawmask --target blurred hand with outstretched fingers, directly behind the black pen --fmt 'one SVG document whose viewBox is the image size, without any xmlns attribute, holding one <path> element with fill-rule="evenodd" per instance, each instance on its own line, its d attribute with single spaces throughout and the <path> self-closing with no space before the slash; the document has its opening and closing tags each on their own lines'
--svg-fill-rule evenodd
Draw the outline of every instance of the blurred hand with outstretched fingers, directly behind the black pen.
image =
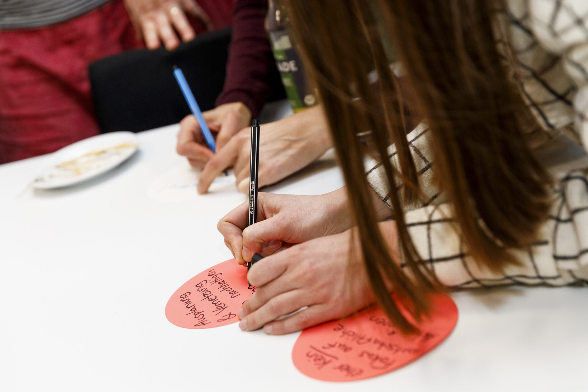
<svg viewBox="0 0 588 392">
<path fill-rule="evenodd" d="M 206 193 L 212 181 L 233 166 L 240 192 L 249 189 L 251 129 L 246 128 L 218 149 L 198 181 L 198 193 Z M 260 128 L 259 186 L 266 186 L 302 169 L 332 146 L 322 108 L 306 109 Z"/>
</svg>

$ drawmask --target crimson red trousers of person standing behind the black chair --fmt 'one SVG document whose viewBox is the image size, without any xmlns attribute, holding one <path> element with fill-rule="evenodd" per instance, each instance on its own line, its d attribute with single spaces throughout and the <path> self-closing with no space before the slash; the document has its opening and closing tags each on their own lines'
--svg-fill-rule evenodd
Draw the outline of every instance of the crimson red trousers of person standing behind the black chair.
<svg viewBox="0 0 588 392">
<path fill-rule="evenodd" d="M 215 28 L 230 24 L 232 0 L 198 2 Z M 98 135 L 88 65 L 140 45 L 122 0 L 61 24 L 0 31 L 0 163 Z"/>
</svg>

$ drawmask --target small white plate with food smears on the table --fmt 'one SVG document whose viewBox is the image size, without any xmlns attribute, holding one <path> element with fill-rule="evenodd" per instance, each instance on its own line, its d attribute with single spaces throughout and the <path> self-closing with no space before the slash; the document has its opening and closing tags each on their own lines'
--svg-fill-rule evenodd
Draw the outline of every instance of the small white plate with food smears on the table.
<svg viewBox="0 0 588 392">
<path fill-rule="evenodd" d="M 91 179 L 129 159 L 139 147 L 132 132 L 112 132 L 83 139 L 49 156 L 33 186 L 51 189 Z"/>
</svg>

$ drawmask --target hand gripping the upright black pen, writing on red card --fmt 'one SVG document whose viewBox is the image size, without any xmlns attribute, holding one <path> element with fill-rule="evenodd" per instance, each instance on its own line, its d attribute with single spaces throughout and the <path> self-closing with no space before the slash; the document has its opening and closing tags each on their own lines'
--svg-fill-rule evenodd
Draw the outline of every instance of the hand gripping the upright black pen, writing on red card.
<svg viewBox="0 0 588 392">
<path fill-rule="evenodd" d="M 239 264 L 245 264 L 254 253 L 268 256 L 290 244 L 350 227 L 345 187 L 320 196 L 259 193 L 259 222 L 249 227 L 248 209 L 249 203 L 243 203 L 217 226 Z"/>
</svg>

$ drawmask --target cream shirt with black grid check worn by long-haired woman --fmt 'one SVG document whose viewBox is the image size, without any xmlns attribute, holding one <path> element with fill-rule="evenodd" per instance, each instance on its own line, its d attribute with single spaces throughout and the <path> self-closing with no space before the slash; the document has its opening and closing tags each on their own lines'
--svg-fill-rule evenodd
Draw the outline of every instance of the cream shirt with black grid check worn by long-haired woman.
<svg viewBox="0 0 588 392">
<path fill-rule="evenodd" d="M 507 18 L 516 53 L 520 91 L 545 130 L 534 135 L 547 142 L 564 133 L 588 146 L 588 0 L 507 0 Z M 588 284 L 588 167 L 561 179 L 549 219 L 539 239 L 513 251 L 520 266 L 496 274 L 480 269 L 469 256 L 453 222 L 452 207 L 432 185 L 435 162 L 429 133 L 421 123 L 407 136 L 423 200 L 405 207 L 416 249 L 440 281 L 452 287 L 497 284 Z M 399 167 L 395 147 L 389 156 Z M 368 165 L 368 181 L 390 207 L 381 165 Z"/>
</svg>

